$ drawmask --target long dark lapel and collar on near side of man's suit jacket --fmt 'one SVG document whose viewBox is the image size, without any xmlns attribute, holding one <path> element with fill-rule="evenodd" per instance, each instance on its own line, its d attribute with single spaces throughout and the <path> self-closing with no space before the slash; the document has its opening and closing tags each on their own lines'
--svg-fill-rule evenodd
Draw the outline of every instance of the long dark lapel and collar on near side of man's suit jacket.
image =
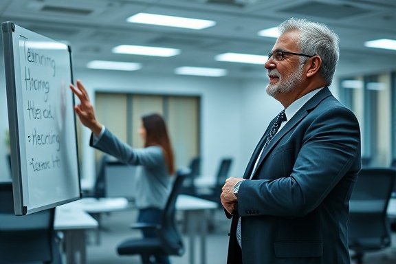
<svg viewBox="0 0 396 264">
<path fill-rule="evenodd" d="M 309 112 L 311 112 L 313 109 L 315 109 L 322 100 L 325 98 L 331 96 L 331 92 L 329 91 L 328 87 L 325 87 L 321 91 L 318 92 L 313 98 L 309 99 L 308 102 L 306 102 L 303 107 L 300 108 L 300 110 L 297 111 L 297 113 L 293 116 L 293 118 L 283 126 L 283 128 L 272 138 L 270 143 L 264 148 L 263 153 L 261 154 L 260 160 L 257 163 L 256 170 L 254 171 L 254 175 L 252 176 L 252 179 L 254 178 L 257 169 L 263 162 L 263 160 L 268 156 L 268 154 L 272 151 L 274 146 L 278 143 L 279 140 L 288 132 L 290 131 L 294 126 L 296 126 L 298 123 L 300 123 L 301 120 L 303 120 Z M 254 166 L 254 164 L 253 164 Z M 246 175 L 245 175 L 246 176 Z M 244 176 L 244 177 L 245 177 Z M 250 176 L 250 175 L 249 175 Z M 248 176 L 248 177 L 249 177 Z"/>
</svg>

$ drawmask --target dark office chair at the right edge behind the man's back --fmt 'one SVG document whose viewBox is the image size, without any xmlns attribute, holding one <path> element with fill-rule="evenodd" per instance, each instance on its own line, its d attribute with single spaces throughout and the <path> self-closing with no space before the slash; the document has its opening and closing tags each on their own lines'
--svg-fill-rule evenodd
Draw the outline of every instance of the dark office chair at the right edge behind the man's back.
<svg viewBox="0 0 396 264">
<path fill-rule="evenodd" d="M 382 250 L 391 245 L 391 224 L 387 217 L 396 170 L 362 168 L 349 202 L 349 249 L 352 259 L 363 263 L 364 252 Z"/>
</svg>

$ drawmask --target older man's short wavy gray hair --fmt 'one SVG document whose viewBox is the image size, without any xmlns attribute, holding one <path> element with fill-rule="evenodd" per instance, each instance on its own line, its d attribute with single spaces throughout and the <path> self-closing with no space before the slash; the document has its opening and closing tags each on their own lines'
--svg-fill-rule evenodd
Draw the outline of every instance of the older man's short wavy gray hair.
<svg viewBox="0 0 396 264">
<path fill-rule="evenodd" d="M 327 25 L 318 22 L 308 21 L 307 19 L 287 19 L 278 26 L 280 34 L 298 30 L 301 33 L 297 47 L 299 52 L 307 55 L 318 55 L 322 58 L 322 66 L 319 74 L 326 80 L 327 85 L 331 85 L 334 72 L 340 56 L 338 35 L 327 28 Z M 301 58 L 305 61 L 307 58 Z"/>
</svg>

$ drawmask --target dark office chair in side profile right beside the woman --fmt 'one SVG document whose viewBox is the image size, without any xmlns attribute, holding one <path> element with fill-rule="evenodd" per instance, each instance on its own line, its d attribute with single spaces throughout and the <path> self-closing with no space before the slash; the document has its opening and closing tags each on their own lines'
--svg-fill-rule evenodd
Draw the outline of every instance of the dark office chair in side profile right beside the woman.
<svg viewBox="0 0 396 264">
<path fill-rule="evenodd" d="M 184 179 L 190 175 L 189 169 L 177 170 L 173 187 L 170 191 L 168 201 L 162 213 L 160 225 L 148 223 L 135 223 L 131 225 L 134 229 L 151 228 L 157 230 L 158 237 L 140 239 L 126 239 L 117 246 L 119 255 L 140 255 L 143 264 L 150 264 L 150 256 L 153 255 L 176 255 L 184 254 L 184 244 L 177 228 L 175 219 L 175 204 L 180 193 Z"/>
</svg>

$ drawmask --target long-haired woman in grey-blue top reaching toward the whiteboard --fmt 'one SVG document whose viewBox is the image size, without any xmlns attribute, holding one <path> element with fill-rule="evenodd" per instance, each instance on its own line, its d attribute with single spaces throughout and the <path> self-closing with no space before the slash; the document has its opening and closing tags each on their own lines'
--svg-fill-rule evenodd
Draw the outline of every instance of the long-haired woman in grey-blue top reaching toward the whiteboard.
<svg viewBox="0 0 396 264">
<path fill-rule="evenodd" d="M 170 194 L 170 176 L 175 173 L 173 150 L 166 130 L 166 124 L 158 114 L 144 115 L 139 133 L 144 148 L 132 148 L 106 129 L 94 113 L 87 91 L 77 80 L 77 87 L 70 89 L 80 99 L 74 107 L 80 122 L 92 131 L 89 145 L 112 155 L 125 164 L 142 166 L 136 175 L 136 185 L 131 192 L 139 209 L 138 222 L 160 223 L 162 210 Z M 143 230 L 144 237 L 157 236 L 155 230 Z M 156 263 L 169 264 L 167 256 L 155 256 Z"/>
</svg>

